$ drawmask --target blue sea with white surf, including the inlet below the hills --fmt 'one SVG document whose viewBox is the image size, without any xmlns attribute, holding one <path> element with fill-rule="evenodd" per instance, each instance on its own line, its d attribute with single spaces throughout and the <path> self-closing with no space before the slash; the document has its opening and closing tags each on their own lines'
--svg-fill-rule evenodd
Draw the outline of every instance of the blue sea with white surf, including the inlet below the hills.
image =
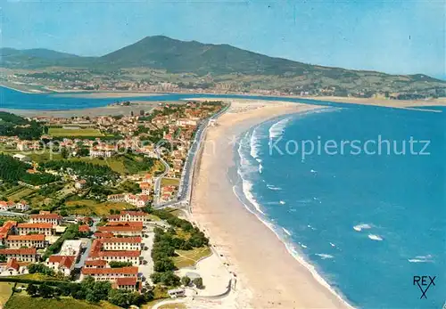
<svg viewBox="0 0 446 309">
<path fill-rule="evenodd" d="M 6 88 L 0 93 L 0 108 L 9 109 L 70 110 L 117 100 Z M 204 96 L 244 98 L 137 99 Z M 446 300 L 446 109 L 248 98 L 325 108 L 275 118 L 240 136 L 235 180 L 245 206 L 351 305 L 441 308 Z M 414 276 L 435 276 L 425 297 Z"/>
</svg>

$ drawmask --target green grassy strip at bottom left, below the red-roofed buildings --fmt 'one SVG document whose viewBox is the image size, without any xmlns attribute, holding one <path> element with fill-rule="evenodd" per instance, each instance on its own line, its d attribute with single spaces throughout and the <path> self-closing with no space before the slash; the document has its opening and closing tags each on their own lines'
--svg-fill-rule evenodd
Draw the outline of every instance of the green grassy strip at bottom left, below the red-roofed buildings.
<svg viewBox="0 0 446 309">
<path fill-rule="evenodd" d="M 77 300 L 71 297 L 61 297 L 45 299 L 40 297 L 29 297 L 26 292 L 15 293 L 4 305 L 4 309 L 38 308 L 38 309 L 119 309 L 116 305 L 102 302 L 98 305 L 89 304 L 86 301 Z"/>
</svg>

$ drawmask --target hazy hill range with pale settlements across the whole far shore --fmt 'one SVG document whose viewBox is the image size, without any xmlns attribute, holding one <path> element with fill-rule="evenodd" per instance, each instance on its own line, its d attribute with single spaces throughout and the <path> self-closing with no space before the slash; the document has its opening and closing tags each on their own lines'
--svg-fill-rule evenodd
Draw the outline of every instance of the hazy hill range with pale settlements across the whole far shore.
<svg viewBox="0 0 446 309">
<path fill-rule="evenodd" d="M 32 78 L 39 78 L 40 82 L 46 79 L 53 85 L 52 81 L 59 80 L 61 84 L 60 80 L 65 80 L 67 85 L 63 87 L 75 89 L 146 91 L 152 89 L 150 86 L 168 82 L 173 90 L 260 90 L 339 96 L 385 92 L 444 96 L 446 85 L 446 81 L 423 74 L 389 75 L 329 68 L 268 57 L 231 45 L 186 42 L 162 36 L 145 37 L 101 57 L 78 57 L 44 49 L 18 51 L 4 48 L 1 53 L 1 67 L 30 70 L 29 74 L 19 78 L 20 82 L 35 82 Z M 66 69 L 46 72 L 45 68 L 50 67 Z M 142 88 L 142 84 L 147 87 Z"/>
</svg>

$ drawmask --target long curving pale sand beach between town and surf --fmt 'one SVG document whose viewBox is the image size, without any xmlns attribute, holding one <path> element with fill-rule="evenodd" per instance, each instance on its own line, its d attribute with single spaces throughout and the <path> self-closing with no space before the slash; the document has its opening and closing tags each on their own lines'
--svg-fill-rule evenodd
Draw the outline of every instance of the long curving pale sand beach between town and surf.
<svg viewBox="0 0 446 309">
<path fill-rule="evenodd" d="M 234 102 L 218 125 L 207 131 L 195 177 L 192 216 L 211 237 L 229 271 L 236 274 L 234 307 L 348 307 L 244 207 L 227 176 L 234 166 L 233 136 L 268 118 L 318 108 L 284 102 Z"/>
</svg>

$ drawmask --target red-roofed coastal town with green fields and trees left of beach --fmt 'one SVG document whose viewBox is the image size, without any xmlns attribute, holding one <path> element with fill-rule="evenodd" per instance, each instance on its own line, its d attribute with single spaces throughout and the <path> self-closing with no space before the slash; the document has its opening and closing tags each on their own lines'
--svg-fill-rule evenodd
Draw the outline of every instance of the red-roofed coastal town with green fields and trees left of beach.
<svg viewBox="0 0 446 309">
<path fill-rule="evenodd" d="M 0 284 L 120 307 L 220 289 L 193 271 L 212 249 L 181 207 L 194 143 L 226 109 L 202 101 L 120 116 L 1 112 Z M 222 278 L 227 289 L 231 277 Z"/>
</svg>

